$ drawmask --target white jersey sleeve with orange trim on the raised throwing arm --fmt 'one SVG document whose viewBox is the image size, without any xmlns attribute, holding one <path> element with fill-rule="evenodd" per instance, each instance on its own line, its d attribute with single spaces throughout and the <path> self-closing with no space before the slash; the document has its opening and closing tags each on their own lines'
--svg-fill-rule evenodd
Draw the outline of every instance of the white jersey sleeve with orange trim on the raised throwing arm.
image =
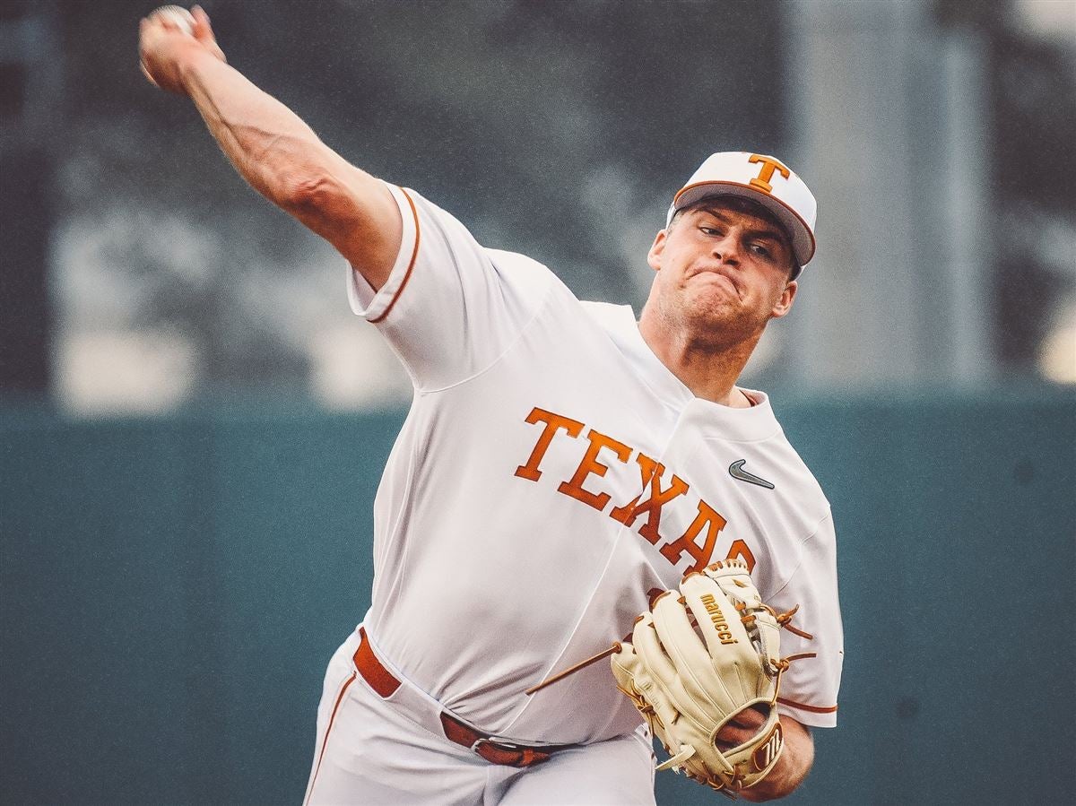
<svg viewBox="0 0 1076 806">
<path fill-rule="evenodd" d="M 388 185 L 404 222 L 388 280 L 374 293 L 350 270 L 352 310 L 377 326 L 420 391 L 490 367 L 535 315 L 553 274 L 523 255 L 486 250 L 452 215 Z"/>
</svg>

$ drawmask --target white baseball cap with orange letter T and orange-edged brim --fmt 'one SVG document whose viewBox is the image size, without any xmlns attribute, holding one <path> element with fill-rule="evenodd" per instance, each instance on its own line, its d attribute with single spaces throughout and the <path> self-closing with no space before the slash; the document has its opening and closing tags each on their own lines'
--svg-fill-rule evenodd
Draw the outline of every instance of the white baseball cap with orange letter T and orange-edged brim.
<svg viewBox="0 0 1076 806">
<path fill-rule="evenodd" d="M 804 181 L 777 157 L 746 151 L 711 154 L 672 198 L 665 226 L 677 210 L 707 196 L 741 196 L 762 204 L 792 238 L 792 254 L 799 268 L 815 256 L 818 203 Z"/>
</svg>

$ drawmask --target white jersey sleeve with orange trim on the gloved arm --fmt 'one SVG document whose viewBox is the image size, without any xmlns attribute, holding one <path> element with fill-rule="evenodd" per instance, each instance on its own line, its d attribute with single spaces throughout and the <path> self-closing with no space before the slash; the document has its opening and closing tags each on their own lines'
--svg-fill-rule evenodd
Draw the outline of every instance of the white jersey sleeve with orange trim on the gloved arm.
<svg viewBox="0 0 1076 806">
<path fill-rule="evenodd" d="M 810 638 L 781 631 L 781 655 L 813 652 L 793 661 L 781 676 L 778 709 L 805 725 L 837 724 L 837 691 L 845 659 L 844 631 L 837 596 L 836 537 L 830 515 L 802 546 L 792 577 L 767 603 L 778 611 L 799 609 L 791 624 Z"/>
</svg>

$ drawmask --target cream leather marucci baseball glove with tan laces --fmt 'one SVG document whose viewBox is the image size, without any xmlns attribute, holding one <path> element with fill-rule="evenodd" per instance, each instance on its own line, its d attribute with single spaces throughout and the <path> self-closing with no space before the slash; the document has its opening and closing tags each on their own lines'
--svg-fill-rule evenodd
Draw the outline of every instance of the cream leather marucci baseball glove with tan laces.
<svg viewBox="0 0 1076 806">
<path fill-rule="evenodd" d="M 683 770 L 735 795 L 769 773 L 783 748 L 777 715 L 780 622 L 762 602 L 747 565 L 714 563 L 666 591 L 611 659 L 617 688 Z M 745 708 L 766 715 L 748 741 L 722 749 L 721 729 Z"/>
</svg>

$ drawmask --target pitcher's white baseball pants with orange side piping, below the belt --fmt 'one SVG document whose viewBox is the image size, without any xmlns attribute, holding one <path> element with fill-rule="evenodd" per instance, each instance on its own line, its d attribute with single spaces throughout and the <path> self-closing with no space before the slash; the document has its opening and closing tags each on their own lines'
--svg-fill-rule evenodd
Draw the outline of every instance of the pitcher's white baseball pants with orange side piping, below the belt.
<svg viewBox="0 0 1076 806">
<path fill-rule="evenodd" d="M 356 631 L 329 662 L 305 806 L 654 806 L 642 730 L 523 769 L 491 764 L 450 741 L 440 707 L 407 681 L 383 699 L 356 671 L 358 645 Z"/>
</svg>

